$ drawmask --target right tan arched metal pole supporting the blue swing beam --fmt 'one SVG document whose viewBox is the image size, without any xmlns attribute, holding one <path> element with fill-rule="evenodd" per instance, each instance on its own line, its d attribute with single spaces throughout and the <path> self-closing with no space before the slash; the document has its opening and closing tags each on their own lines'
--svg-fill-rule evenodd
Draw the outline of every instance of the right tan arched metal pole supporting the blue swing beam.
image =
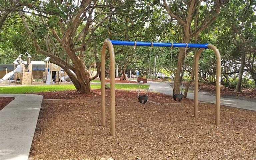
<svg viewBox="0 0 256 160">
<path fill-rule="evenodd" d="M 215 124 L 218 127 L 220 125 L 220 73 L 221 73 L 221 57 L 220 52 L 214 45 L 208 44 L 207 47 L 209 49 L 212 49 L 216 55 L 216 111 L 215 111 Z M 194 91 L 194 100 L 195 100 L 195 106 L 194 106 L 194 115 L 195 118 L 198 118 L 198 63 L 199 63 L 199 57 L 202 53 L 204 48 L 200 48 L 195 55 L 195 91 Z"/>
</svg>

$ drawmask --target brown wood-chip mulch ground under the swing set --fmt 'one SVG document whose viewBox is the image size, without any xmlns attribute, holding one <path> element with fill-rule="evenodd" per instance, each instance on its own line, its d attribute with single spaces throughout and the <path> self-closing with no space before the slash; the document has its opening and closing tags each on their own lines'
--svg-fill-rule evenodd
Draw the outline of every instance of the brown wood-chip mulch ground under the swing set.
<svg viewBox="0 0 256 160">
<path fill-rule="evenodd" d="M 214 104 L 199 103 L 195 120 L 192 103 L 143 105 L 134 93 L 117 91 L 116 136 L 110 136 L 109 92 L 106 127 L 100 126 L 96 93 L 43 100 L 29 159 L 256 159 L 255 111 L 221 106 L 220 128 L 215 128 Z"/>
</svg>

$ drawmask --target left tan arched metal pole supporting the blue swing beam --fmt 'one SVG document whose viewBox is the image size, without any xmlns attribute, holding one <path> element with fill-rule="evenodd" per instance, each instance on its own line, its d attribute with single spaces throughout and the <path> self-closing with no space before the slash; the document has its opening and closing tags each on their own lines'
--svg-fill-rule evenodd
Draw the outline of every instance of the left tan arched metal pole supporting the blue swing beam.
<svg viewBox="0 0 256 160">
<path fill-rule="evenodd" d="M 105 56 L 110 58 L 110 135 L 115 135 L 115 52 L 110 40 L 105 40 L 101 50 L 101 125 L 106 126 Z"/>
</svg>

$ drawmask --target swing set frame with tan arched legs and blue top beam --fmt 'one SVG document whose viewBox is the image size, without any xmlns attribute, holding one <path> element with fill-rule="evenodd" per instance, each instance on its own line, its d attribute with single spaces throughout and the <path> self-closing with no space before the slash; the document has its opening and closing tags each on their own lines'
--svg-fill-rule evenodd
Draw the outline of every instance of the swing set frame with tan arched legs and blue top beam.
<svg viewBox="0 0 256 160">
<path fill-rule="evenodd" d="M 126 46 L 151 46 L 151 47 L 183 47 L 200 48 L 195 55 L 195 88 L 194 88 L 194 117 L 198 118 L 198 62 L 204 49 L 212 49 L 216 55 L 216 108 L 215 124 L 220 124 L 220 71 L 221 57 L 220 52 L 211 44 L 192 44 L 192 43 L 162 43 L 162 42 L 135 42 L 135 41 L 117 41 L 106 39 L 101 50 L 101 125 L 106 126 L 106 89 L 105 89 L 105 57 L 106 49 L 109 50 L 110 58 L 110 135 L 115 135 L 115 52 L 113 45 Z"/>
</svg>

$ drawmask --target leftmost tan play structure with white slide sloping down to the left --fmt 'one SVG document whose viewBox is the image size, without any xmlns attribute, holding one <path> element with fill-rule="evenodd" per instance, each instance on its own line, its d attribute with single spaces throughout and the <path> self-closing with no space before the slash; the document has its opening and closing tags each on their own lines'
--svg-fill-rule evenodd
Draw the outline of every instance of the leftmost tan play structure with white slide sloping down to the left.
<svg viewBox="0 0 256 160">
<path fill-rule="evenodd" d="M 24 61 L 21 59 L 24 55 L 27 56 L 27 65 L 25 66 Z M 17 67 L 16 64 L 18 63 Z M 21 85 L 31 85 L 33 82 L 31 56 L 27 52 L 20 54 L 19 57 L 13 61 L 14 70 L 7 73 L 0 82 L 6 81 L 14 75 L 14 82 Z M 20 82 L 18 82 L 20 81 Z"/>
</svg>

